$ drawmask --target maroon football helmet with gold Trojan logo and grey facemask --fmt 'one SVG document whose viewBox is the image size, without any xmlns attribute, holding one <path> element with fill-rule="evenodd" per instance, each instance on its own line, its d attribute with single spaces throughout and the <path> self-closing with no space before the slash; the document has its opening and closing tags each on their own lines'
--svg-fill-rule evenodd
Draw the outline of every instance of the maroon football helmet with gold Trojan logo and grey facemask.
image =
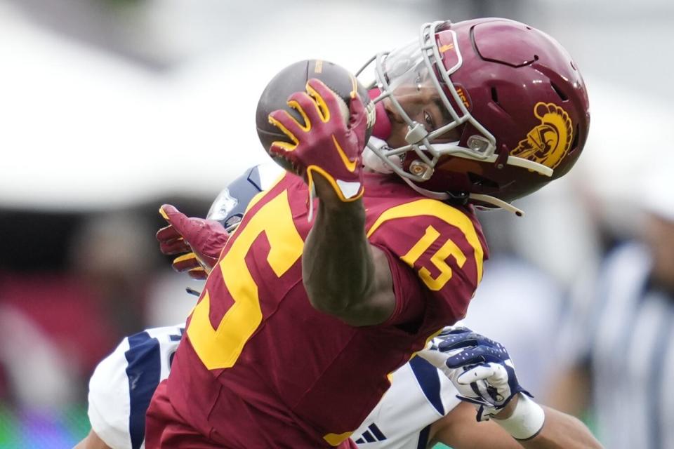
<svg viewBox="0 0 674 449">
<path fill-rule="evenodd" d="M 585 145 L 585 83 L 538 29 L 501 18 L 432 22 L 374 60 L 375 101 L 408 132 L 402 145 L 368 146 L 427 196 L 520 213 L 510 201 L 567 173 Z M 414 93 L 442 118 L 417 110 Z"/>
</svg>

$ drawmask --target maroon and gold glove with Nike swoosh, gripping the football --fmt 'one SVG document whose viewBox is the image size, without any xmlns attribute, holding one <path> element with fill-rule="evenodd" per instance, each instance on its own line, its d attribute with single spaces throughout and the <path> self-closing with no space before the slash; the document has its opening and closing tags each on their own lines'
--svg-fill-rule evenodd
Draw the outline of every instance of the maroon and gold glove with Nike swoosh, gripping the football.
<svg viewBox="0 0 674 449">
<path fill-rule="evenodd" d="M 293 142 L 273 142 L 270 152 L 288 160 L 312 192 L 314 172 L 323 175 L 341 201 L 359 199 L 364 191 L 362 152 L 365 147 L 367 116 L 355 90 L 345 122 L 345 102 L 322 81 L 310 79 L 306 92 L 293 93 L 289 107 L 304 119 L 304 124 L 283 109 L 269 114 L 272 125 Z"/>
</svg>

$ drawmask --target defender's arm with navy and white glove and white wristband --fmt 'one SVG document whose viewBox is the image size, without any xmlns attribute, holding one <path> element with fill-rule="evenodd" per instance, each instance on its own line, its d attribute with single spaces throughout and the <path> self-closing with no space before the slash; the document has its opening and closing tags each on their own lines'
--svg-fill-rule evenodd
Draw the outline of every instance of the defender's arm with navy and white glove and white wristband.
<svg viewBox="0 0 674 449">
<path fill-rule="evenodd" d="M 442 333 L 434 347 L 418 354 L 447 375 L 457 397 L 471 405 L 462 404 L 441 420 L 437 441 L 457 449 L 602 447 L 576 418 L 529 399 L 502 344 L 460 327 Z M 489 420 L 489 427 L 483 425 Z"/>
</svg>

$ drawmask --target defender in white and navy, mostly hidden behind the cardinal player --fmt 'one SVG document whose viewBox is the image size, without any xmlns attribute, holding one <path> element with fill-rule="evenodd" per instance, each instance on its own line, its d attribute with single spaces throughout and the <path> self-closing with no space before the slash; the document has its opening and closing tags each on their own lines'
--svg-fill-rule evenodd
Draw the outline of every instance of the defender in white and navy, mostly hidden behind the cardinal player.
<svg viewBox="0 0 674 449">
<path fill-rule="evenodd" d="M 218 196 L 211 207 L 209 218 L 232 229 L 240 220 L 250 199 L 270 185 L 277 173 L 275 165 L 247 170 Z M 204 229 L 202 225 L 203 220 L 199 225 L 201 230 Z M 166 236 L 166 232 L 162 235 Z M 202 245 L 222 241 L 218 238 L 206 238 L 203 233 L 198 237 L 192 236 L 192 239 L 185 236 L 185 241 L 192 244 L 191 249 L 195 253 L 199 253 L 198 244 L 194 243 L 197 239 Z M 162 241 L 162 250 L 176 249 L 174 243 L 176 242 Z M 180 245 L 184 243 L 181 242 Z M 201 251 L 201 257 L 181 255 L 176 258 L 173 266 L 178 271 L 187 271 L 190 276 L 199 278 L 204 271 L 199 260 L 203 262 L 209 257 L 213 257 L 210 250 Z M 178 347 L 183 328 L 184 325 L 179 324 L 131 335 L 98 365 L 89 383 L 88 414 L 92 432 L 78 448 L 144 447 L 145 410 L 157 384 L 169 375 L 173 353 Z M 448 337 L 454 340 L 447 340 Z M 543 412 L 532 401 L 527 401 L 524 396 L 520 397 L 519 391 L 523 390 L 517 384 L 514 371 L 512 375 L 505 377 L 498 369 L 494 371 L 495 375 L 482 373 L 484 378 L 476 377 L 472 382 L 458 384 L 460 390 L 457 390 L 455 385 L 461 377 L 458 374 L 471 375 L 475 371 L 471 368 L 475 367 L 489 370 L 489 366 L 500 366 L 501 361 L 491 358 L 479 363 L 459 363 L 459 366 L 449 368 L 452 356 L 456 358 L 457 353 L 459 356 L 470 355 L 470 351 L 476 350 L 490 351 L 495 344 L 491 340 L 468 330 L 458 330 L 454 335 L 439 337 L 434 340 L 434 344 L 435 349 L 424 351 L 423 355 L 440 369 L 425 358 L 415 356 L 395 371 L 390 389 L 361 427 L 352 434 L 359 448 L 417 449 L 430 448 L 437 442 L 451 445 L 455 449 L 600 447 L 578 420 L 548 408 Z M 428 355 L 429 352 L 431 356 Z M 438 356 L 434 357 L 433 354 Z M 503 363 L 509 363 L 507 351 L 503 351 L 503 354 L 506 357 Z M 498 377 L 499 373 L 501 377 Z M 505 384 L 504 379 L 507 381 Z M 501 393 L 509 391 L 501 394 L 501 403 L 494 403 L 494 398 L 491 397 L 497 390 Z M 510 401 L 510 410 L 505 410 L 508 408 L 505 396 L 508 396 L 507 399 L 517 398 Z M 475 420 L 474 404 L 478 406 L 480 419 L 485 422 Z M 498 412 L 503 414 L 496 415 Z M 510 414 L 512 417 L 504 420 L 486 421 L 491 415 L 505 418 Z M 504 428 L 510 434 L 530 439 L 518 442 Z"/>
</svg>

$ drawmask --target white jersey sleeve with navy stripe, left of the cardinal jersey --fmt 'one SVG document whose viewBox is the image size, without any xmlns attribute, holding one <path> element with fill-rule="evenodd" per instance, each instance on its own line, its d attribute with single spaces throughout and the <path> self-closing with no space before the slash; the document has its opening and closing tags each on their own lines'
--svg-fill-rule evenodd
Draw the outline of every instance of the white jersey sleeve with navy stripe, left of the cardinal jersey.
<svg viewBox="0 0 674 449">
<path fill-rule="evenodd" d="M 179 324 L 126 337 L 96 367 L 89 381 L 89 422 L 111 448 L 143 448 L 145 411 L 159 382 L 169 377 L 184 330 Z"/>
</svg>

